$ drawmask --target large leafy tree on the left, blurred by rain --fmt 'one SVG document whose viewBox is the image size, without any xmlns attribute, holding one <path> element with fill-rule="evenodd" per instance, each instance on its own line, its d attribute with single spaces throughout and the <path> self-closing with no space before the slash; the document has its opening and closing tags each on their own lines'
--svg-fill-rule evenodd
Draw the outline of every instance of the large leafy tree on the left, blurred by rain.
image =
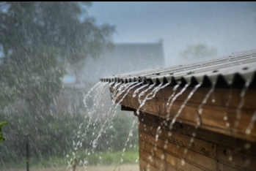
<svg viewBox="0 0 256 171">
<path fill-rule="evenodd" d="M 90 5 L 0 2 L 0 118 L 8 117 L 10 122 L 7 136 L 8 132 L 17 136 L 8 138 L 13 138 L 10 145 L 23 145 L 26 132 L 39 137 L 48 134 L 44 126 L 54 119 L 51 104 L 62 89 L 65 65 L 77 72 L 85 58 L 111 46 L 114 26 L 96 25 L 87 16 Z M 14 109 L 4 112 L 8 104 Z"/>
</svg>

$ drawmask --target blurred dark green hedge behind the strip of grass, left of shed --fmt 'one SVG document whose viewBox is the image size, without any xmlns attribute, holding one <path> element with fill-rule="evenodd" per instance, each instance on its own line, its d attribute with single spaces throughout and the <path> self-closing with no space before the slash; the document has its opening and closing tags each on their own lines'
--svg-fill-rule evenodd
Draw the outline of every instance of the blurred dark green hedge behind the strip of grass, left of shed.
<svg viewBox="0 0 256 171">
<path fill-rule="evenodd" d="M 0 144 L 0 158 L 7 163 L 14 162 L 19 164 L 22 162 L 22 157 L 25 157 L 24 151 L 27 142 L 25 132 L 30 133 L 29 151 L 30 156 L 35 161 L 41 161 L 42 156 L 59 158 L 67 155 L 73 156 L 74 152 L 78 159 L 87 158 L 92 163 L 96 162 L 93 161 L 93 153 L 109 153 L 106 154 L 106 157 L 109 162 L 114 162 L 117 159 L 120 160 L 120 156 L 122 156 L 120 153 L 122 152 L 118 152 L 120 156 L 117 159 L 109 159 L 111 158 L 110 153 L 122 151 L 125 148 L 126 155 L 126 151 L 133 151 L 138 144 L 137 128 L 136 126 L 132 127 L 133 118 L 125 113 L 117 113 L 113 118 L 113 125 L 111 123 L 107 124 L 106 131 L 101 134 L 98 145 L 93 151 L 92 141 L 97 137 L 105 121 L 104 119 L 100 120 L 98 118 L 98 121 L 89 121 L 87 115 L 81 113 L 50 114 L 43 118 L 37 118 L 35 129 L 31 129 L 32 126 L 29 126 L 28 123 L 32 123 L 29 122 L 30 117 L 28 115 L 23 115 L 23 119 L 17 119 L 18 114 L 15 113 L 10 113 L 9 115 L 11 116 L 9 119 L 10 126 L 4 130 L 8 142 L 4 141 Z M 7 117 L 7 115 L 4 116 Z M 81 134 L 78 134 L 78 132 L 81 132 Z M 133 132 L 133 135 L 128 140 L 129 132 Z M 125 145 L 127 140 L 128 143 Z M 77 148 L 78 142 L 81 142 L 81 146 L 79 143 Z M 88 153 L 91 153 L 92 158 Z M 97 156 L 95 157 L 97 158 Z M 134 161 L 134 157 L 132 159 Z M 127 160 L 124 159 L 124 162 Z M 104 161 L 104 164 L 106 163 L 107 161 Z"/>
</svg>

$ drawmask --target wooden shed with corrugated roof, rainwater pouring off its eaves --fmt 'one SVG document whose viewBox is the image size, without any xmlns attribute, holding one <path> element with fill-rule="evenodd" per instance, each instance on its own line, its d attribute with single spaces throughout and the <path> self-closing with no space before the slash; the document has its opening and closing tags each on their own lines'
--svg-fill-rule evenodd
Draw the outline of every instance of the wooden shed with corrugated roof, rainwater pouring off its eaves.
<svg viewBox="0 0 256 171">
<path fill-rule="evenodd" d="M 249 52 L 100 81 L 138 116 L 140 170 L 254 171 L 255 72 Z"/>
</svg>

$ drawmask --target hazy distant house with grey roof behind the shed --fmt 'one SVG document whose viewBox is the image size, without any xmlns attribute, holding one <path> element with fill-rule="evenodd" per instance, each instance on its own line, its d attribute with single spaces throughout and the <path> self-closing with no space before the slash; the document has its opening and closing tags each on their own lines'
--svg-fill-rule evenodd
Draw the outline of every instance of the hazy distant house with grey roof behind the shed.
<svg viewBox="0 0 256 171">
<path fill-rule="evenodd" d="M 122 72 L 135 72 L 164 65 L 163 41 L 154 43 L 117 43 L 96 58 L 87 58 L 77 77 L 66 75 L 64 89 L 56 97 L 56 113 L 75 113 L 84 110 L 86 94 L 99 77 Z M 103 99 L 106 100 L 106 99 Z"/>
</svg>

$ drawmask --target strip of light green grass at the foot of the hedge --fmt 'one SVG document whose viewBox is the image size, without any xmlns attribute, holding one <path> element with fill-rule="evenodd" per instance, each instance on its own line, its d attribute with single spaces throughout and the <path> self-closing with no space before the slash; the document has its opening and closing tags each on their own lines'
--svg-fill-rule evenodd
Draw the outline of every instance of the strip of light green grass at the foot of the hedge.
<svg viewBox="0 0 256 171">
<path fill-rule="evenodd" d="M 73 155 L 70 155 L 73 156 Z M 47 167 L 67 167 L 72 161 L 72 157 L 67 156 L 42 156 L 41 158 L 29 159 L 29 167 L 32 168 L 47 168 Z M 82 165 L 84 159 L 87 165 L 111 165 L 111 164 L 137 164 L 139 159 L 139 148 L 129 148 L 128 151 L 103 151 L 98 153 L 85 153 L 78 151 L 76 153 L 78 165 Z M 79 164 L 80 163 L 80 164 Z M 0 165 L 3 169 L 8 168 L 26 168 L 26 158 L 20 159 L 17 162 L 8 162 Z"/>
</svg>

